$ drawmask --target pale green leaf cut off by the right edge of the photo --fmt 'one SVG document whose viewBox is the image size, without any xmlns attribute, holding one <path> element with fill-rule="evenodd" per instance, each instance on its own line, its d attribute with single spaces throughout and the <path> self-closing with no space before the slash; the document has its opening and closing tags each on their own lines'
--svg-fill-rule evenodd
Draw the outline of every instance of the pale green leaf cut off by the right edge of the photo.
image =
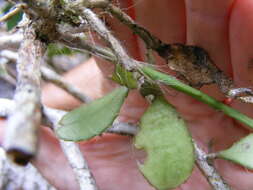
<svg viewBox="0 0 253 190">
<path fill-rule="evenodd" d="M 230 160 L 248 169 L 253 169 L 253 134 L 250 134 L 229 149 L 218 153 L 218 158 Z"/>
</svg>

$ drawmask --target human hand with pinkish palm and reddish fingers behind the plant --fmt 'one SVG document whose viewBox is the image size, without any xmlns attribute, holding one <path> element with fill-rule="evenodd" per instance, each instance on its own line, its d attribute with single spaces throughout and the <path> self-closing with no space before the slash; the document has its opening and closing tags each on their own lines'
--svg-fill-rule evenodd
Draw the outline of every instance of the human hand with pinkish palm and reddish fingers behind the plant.
<svg viewBox="0 0 253 190">
<path fill-rule="evenodd" d="M 129 1 L 122 0 L 122 7 L 132 7 Z M 236 85 L 248 87 L 252 85 L 252 8 L 253 2 L 250 0 L 185 0 L 185 3 L 182 0 L 136 0 L 134 6 L 126 12 L 162 41 L 203 47 L 219 68 L 233 76 Z M 144 58 L 144 45 L 136 40 L 132 32 L 116 22 L 111 23 L 111 28 L 131 56 Z M 159 65 L 163 64 L 161 59 L 157 60 Z M 97 98 L 114 87 L 106 79 L 111 70 L 112 66 L 108 63 L 99 63 L 97 66 L 94 60 L 89 60 L 69 72 L 65 78 L 91 97 Z M 223 99 L 214 86 L 204 87 L 203 90 Z M 212 151 L 218 151 L 248 133 L 236 121 L 186 95 L 168 91 L 167 97 L 188 123 L 193 138 L 206 151 L 210 142 L 213 144 Z M 60 109 L 71 109 L 79 104 L 51 85 L 45 86 L 43 101 L 48 106 Z M 146 106 L 147 103 L 134 92 L 124 105 L 121 119 L 137 122 Z M 233 106 L 249 115 L 252 112 L 251 105 L 236 102 Z M 44 131 L 41 136 L 41 148 L 35 161 L 39 169 L 59 189 L 77 189 L 57 140 L 50 132 Z M 137 169 L 136 160 L 142 159 L 143 155 L 136 153 L 131 143 L 131 138 L 116 135 L 102 135 L 81 143 L 81 149 L 101 190 L 153 189 Z M 253 173 L 250 171 L 222 160 L 216 161 L 215 166 L 234 189 L 253 189 Z M 197 168 L 180 188 L 211 189 Z"/>
</svg>

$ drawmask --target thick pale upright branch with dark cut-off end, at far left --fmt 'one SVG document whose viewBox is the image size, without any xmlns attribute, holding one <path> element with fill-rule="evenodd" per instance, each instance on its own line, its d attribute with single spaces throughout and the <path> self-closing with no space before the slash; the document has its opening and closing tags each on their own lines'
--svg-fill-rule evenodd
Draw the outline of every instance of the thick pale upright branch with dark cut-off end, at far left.
<svg viewBox="0 0 253 190">
<path fill-rule="evenodd" d="M 41 118 L 40 63 L 44 52 L 44 45 L 36 40 L 34 25 L 27 26 L 17 62 L 15 111 L 8 118 L 4 138 L 7 155 L 21 165 L 27 164 L 37 152 Z"/>
</svg>

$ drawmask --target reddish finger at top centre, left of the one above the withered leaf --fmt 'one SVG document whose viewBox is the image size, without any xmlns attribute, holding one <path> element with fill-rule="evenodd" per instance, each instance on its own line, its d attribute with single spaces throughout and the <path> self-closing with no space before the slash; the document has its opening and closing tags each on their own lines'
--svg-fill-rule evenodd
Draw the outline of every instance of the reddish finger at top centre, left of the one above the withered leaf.
<svg viewBox="0 0 253 190">
<path fill-rule="evenodd" d="M 184 0 L 135 0 L 136 21 L 167 43 L 185 43 Z M 142 50 L 144 47 L 142 46 Z"/>
</svg>

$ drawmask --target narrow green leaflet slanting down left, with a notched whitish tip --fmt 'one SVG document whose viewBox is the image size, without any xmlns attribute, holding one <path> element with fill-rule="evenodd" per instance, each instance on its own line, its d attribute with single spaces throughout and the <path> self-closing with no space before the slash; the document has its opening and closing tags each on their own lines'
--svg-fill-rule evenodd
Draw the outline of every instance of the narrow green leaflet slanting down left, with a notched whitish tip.
<svg viewBox="0 0 253 190">
<path fill-rule="evenodd" d="M 110 94 L 66 114 L 56 130 L 59 138 L 81 141 L 100 135 L 118 116 L 128 94 L 126 87 L 119 87 Z"/>
</svg>

